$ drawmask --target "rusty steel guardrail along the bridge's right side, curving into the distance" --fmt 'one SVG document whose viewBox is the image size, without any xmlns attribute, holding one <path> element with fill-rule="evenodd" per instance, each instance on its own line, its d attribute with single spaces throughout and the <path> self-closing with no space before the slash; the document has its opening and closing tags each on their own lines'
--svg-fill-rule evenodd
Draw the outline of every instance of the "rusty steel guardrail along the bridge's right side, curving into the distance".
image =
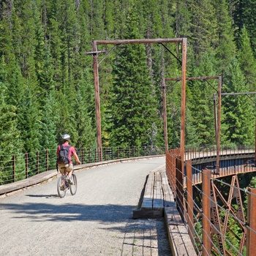
<svg viewBox="0 0 256 256">
<path fill-rule="evenodd" d="M 254 146 L 222 148 L 219 155 L 215 174 L 211 148 L 187 148 L 184 163 L 179 148 L 167 152 L 176 206 L 197 255 L 255 255 L 256 189 L 239 184 L 241 175 L 256 171 Z"/>
</svg>

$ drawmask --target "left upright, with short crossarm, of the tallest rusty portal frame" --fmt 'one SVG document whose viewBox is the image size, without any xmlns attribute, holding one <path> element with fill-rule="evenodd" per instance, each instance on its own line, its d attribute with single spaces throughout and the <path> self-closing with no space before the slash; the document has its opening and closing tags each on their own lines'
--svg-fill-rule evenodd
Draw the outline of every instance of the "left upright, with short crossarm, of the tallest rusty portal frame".
<svg viewBox="0 0 256 256">
<path fill-rule="evenodd" d="M 97 146 L 98 146 L 98 159 L 102 161 L 102 128 L 100 120 L 100 103 L 99 103 L 99 71 L 98 71 L 98 55 L 97 55 L 97 42 L 92 42 L 93 60 L 94 60 L 94 90 L 95 90 L 95 114 L 97 125 Z"/>
</svg>

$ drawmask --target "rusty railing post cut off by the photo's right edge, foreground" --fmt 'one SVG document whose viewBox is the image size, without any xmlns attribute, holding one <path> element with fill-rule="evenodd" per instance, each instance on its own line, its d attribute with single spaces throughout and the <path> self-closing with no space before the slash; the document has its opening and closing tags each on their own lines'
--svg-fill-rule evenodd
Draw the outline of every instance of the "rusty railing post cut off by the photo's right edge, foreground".
<svg viewBox="0 0 256 256">
<path fill-rule="evenodd" d="M 248 188 L 246 256 L 255 255 L 256 244 L 256 189 Z"/>
</svg>

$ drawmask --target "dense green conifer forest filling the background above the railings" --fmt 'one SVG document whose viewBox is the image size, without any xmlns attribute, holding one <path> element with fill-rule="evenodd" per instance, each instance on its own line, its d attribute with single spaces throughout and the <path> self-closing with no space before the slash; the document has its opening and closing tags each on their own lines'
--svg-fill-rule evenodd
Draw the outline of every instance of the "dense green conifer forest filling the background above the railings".
<svg viewBox="0 0 256 256">
<path fill-rule="evenodd" d="M 186 37 L 187 77 L 256 91 L 256 0 L 1 0 L 1 155 L 97 146 L 92 41 Z M 163 78 L 181 77 L 181 45 L 99 45 L 102 146 L 164 146 Z M 210 84 L 209 84 L 210 83 Z M 214 145 L 217 81 L 187 81 L 186 145 Z M 167 86 L 170 147 L 181 84 Z M 255 143 L 255 96 L 222 97 L 222 145 Z"/>
</svg>

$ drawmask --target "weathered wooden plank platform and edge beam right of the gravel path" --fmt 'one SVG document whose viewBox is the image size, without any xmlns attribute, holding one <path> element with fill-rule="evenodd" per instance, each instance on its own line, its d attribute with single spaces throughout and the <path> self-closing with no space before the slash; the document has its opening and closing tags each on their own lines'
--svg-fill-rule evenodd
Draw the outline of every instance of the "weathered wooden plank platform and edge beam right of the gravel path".
<svg viewBox="0 0 256 256">
<path fill-rule="evenodd" d="M 176 208 L 173 192 L 167 181 L 165 165 L 148 174 L 140 209 L 134 219 L 165 217 L 172 255 L 196 255 L 187 228 Z"/>
</svg>

